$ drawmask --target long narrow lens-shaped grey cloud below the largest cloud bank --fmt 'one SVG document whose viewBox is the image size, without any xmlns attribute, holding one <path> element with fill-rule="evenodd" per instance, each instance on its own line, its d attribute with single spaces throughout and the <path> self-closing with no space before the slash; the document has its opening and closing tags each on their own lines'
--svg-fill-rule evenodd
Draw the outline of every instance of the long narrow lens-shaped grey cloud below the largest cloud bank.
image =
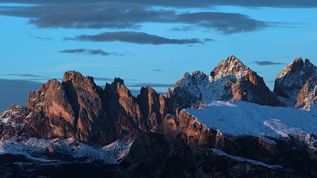
<svg viewBox="0 0 317 178">
<path fill-rule="evenodd" d="M 143 32 L 104 32 L 97 35 L 78 35 L 74 38 L 64 38 L 64 40 L 86 41 L 86 42 L 127 42 L 135 44 L 150 44 L 150 45 L 163 45 L 163 44 L 204 44 L 205 40 L 197 38 L 193 39 L 169 39 L 151 35 Z M 208 39 L 208 41 L 211 39 Z"/>
</svg>

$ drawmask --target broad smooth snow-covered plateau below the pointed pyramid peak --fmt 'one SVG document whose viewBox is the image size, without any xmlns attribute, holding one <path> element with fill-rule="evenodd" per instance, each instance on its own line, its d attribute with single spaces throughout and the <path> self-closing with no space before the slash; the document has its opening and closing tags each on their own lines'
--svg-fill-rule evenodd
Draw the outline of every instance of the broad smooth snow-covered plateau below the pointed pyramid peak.
<svg viewBox="0 0 317 178">
<path fill-rule="evenodd" d="M 311 139 L 317 134 L 317 118 L 309 112 L 284 107 L 262 106 L 244 101 L 209 101 L 203 110 L 186 109 L 196 122 L 222 134 Z"/>
</svg>

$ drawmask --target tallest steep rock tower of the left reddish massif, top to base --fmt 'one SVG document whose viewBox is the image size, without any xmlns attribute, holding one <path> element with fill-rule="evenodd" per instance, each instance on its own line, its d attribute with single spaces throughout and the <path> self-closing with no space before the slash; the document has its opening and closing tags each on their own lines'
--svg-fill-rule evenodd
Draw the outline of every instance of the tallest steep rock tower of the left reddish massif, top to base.
<svg viewBox="0 0 317 178">
<path fill-rule="evenodd" d="M 62 85 L 77 119 L 76 137 L 82 142 L 104 145 L 113 142 L 117 135 L 105 113 L 103 89 L 95 84 L 94 78 L 70 71 L 64 74 Z"/>
</svg>

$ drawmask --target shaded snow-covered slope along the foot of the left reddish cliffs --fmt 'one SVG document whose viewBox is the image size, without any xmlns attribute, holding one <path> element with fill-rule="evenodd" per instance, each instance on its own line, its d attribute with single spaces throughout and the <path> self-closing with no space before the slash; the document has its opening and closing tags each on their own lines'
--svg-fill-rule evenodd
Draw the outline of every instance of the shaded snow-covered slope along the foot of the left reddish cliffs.
<svg viewBox="0 0 317 178">
<path fill-rule="evenodd" d="M 74 137 L 63 140 L 59 138 L 20 139 L 15 136 L 1 138 L 0 155 L 24 155 L 29 160 L 45 162 L 59 159 L 64 161 L 103 160 L 107 164 L 118 164 L 122 158 L 126 157 L 134 140 L 134 138 L 127 139 L 126 141 L 119 139 L 103 147 L 82 143 Z"/>
</svg>

